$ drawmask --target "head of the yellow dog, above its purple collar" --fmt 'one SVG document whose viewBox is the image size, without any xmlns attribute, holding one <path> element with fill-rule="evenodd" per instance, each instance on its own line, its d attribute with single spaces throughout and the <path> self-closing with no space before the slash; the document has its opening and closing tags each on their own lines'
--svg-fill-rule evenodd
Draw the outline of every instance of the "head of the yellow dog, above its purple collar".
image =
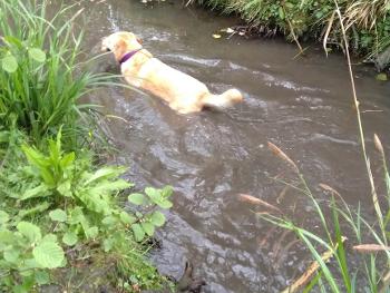
<svg viewBox="0 0 390 293">
<path fill-rule="evenodd" d="M 120 60 L 126 52 L 142 48 L 142 40 L 127 31 L 114 32 L 101 40 L 101 50 L 111 51 L 117 60 Z"/>
</svg>

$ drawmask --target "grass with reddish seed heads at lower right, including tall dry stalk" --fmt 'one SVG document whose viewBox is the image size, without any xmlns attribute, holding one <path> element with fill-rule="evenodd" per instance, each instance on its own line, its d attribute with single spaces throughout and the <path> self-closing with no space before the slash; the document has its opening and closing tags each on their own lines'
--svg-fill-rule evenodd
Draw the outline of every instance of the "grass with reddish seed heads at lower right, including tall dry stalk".
<svg viewBox="0 0 390 293">
<path fill-rule="evenodd" d="M 309 187 L 303 174 L 300 172 L 296 164 L 287 157 L 280 148 L 270 144 L 271 149 L 284 162 L 292 167 L 292 172 L 299 177 L 299 185 L 289 184 L 309 197 L 316 216 L 321 223 L 321 234 L 314 234 L 306 228 L 302 228 L 289 218 L 277 217 L 273 215 L 263 215 L 262 217 L 277 226 L 293 231 L 301 242 L 306 246 L 313 260 L 315 260 L 319 270 L 309 277 L 309 283 L 304 292 L 310 292 L 313 287 L 321 292 L 371 292 L 387 293 L 390 292 L 390 248 L 389 248 L 389 219 L 390 219 L 390 176 L 387 166 L 387 159 L 383 146 L 379 137 L 374 136 L 374 145 L 381 156 L 383 180 L 386 186 L 384 199 L 380 201 L 378 196 L 378 182 L 376 182 L 371 172 L 370 159 L 367 154 L 367 143 L 364 137 L 363 123 L 359 108 L 358 95 L 354 86 L 354 77 L 349 53 L 349 42 L 343 17 L 337 6 L 335 14 L 340 22 L 340 29 L 343 36 L 343 42 L 349 66 L 349 75 L 352 87 L 352 100 L 357 109 L 357 120 L 359 126 L 359 135 L 361 143 L 362 158 L 365 164 L 365 172 L 369 186 L 371 188 L 372 207 L 374 209 L 374 219 L 368 221 L 361 213 L 361 206 L 357 207 L 348 205 L 342 195 L 332 187 L 321 184 L 320 186 L 331 195 L 331 201 L 328 206 L 321 206 L 314 193 Z M 331 211 L 330 218 L 324 211 Z M 349 240 L 345 241 L 344 236 Z M 348 243 L 345 245 L 345 242 Z M 362 253 L 360 257 L 353 256 L 354 253 Z M 329 255 L 326 258 L 333 258 L 331 262 L 325 262 L 323 252 Z M 355 262 L 352 262 L 352 260 Z M 358 280 L 361 282 L 358 283 Z M 300 286 L 302 289 L 304 284 Z M 284 292 L 296 292 L 298 286 L 287 287 Z"/>
</svg>

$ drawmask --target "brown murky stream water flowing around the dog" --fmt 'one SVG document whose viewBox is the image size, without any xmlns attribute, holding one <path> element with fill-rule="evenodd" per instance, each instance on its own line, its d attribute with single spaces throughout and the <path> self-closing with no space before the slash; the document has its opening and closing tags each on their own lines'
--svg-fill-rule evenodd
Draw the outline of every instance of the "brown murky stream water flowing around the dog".
<svg viewBox="0 0 390 293">
<path fill-rule="evenodd" d="M 294 59 L 296 48 L 281 40 L 213 39 L 214 31 L 237 20 L 183 9 L 182 1 L 145 6 L 107 0 L 84 6 L 91 48 L 110 32 L 133 31 L 156 57 L 213 91 L 234 86 L 245 95 L 245 102 L 227 113 L 188 116 L 126 89 L 111 88 L 94 97 L 107 113 L 127 120 L 114 121 L 111 131 L 120 149 L 118 160 L 130 167 L 128 176 L 137 187 L 175 187 L 168 223 L 158 233 L 163 247 L 152 255 L 160 272 L 178 276 L 185 260 L 191 260 L 195 274 L 208 284 L 205 292 L 223 293 L 279 292 L 303 270 L 309 256 L 293 236 L 256 219 L 255 208 L 237 197 L 253 195 L 314 225 L 309 201 L 292 191 L 282 193 L 284 186 L 270 178 L 289 172 L 266 148 L 267 141 L 298 163 L 319 198 L 326 199 L 316 188 L 326 183 L 349 203 L 369 205 L 342 56 L 326 59 L 321 50 L 311 49 L 308 57 Z M 374 160 L 372 134 L 390 145 L 389 84 L 376 81 L 370 68 L 355 70 Z"/>
</svg>

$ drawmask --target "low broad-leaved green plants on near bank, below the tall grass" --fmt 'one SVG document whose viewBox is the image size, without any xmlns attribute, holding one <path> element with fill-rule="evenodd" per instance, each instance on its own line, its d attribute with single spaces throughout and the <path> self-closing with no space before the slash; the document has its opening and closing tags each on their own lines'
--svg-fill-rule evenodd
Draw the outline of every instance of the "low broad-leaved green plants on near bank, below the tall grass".
<svg viewBox="0 0 390 293">
<path fill-rule="evenodd" d="M 62 266 L 66 258 L 72 261 L 75 255 L 65 251 L 74 247 L 90 253 L 82 248 L 92 245 L 120 255 L 124 242 L 130 248 L 165 224 L 157 208 L 172 207 L 172 187 L 130 194 L 127 204 L 135 211 L 127 212 L 118 204 L 133 186 L 119 177 L 125 168 L 105 166 L 91 172 L 89 156 L 77 158 L 62 152 L 61 131 L 56 140 L 48 140 L 48 154 L 28 145 L 22 150 L 30 164 L 18 166 L 18 176 L 10 177 L 6 192 L 8 206 L 13 203 L 19 208 L 13 214 L 0 211 L 0 275 L 9 276 L 6 285 L 42 284 L 43 273 Z"/>
</svg>

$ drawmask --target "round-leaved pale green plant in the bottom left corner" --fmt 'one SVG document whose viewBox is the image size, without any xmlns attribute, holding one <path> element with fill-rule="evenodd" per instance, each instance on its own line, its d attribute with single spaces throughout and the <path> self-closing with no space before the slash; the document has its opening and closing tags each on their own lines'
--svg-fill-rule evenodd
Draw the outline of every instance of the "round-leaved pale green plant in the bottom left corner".
<svg viewBox="0 0 390 293">
<path fill-rule="evenodd" d="M 49 283 L 49 270 L 65 264 L 65 253 L 55 234 L 42 236 L 39 226 L 30 222 L 14 226 L 10 216 L 0 211 L 0 285 L 29 292 L 35 284 Z"/>
</svg>

